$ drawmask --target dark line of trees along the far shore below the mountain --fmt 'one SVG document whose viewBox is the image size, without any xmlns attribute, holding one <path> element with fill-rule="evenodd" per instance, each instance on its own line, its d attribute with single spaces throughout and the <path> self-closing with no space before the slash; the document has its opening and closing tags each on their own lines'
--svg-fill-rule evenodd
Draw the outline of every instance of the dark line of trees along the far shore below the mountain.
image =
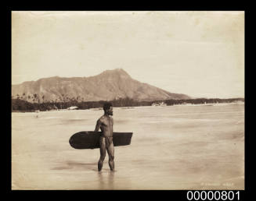
<svg viewBox="0 0 256 201">
<path fill-rule="evenodd" d="M 167 105 L 175 104 L 216 104 L 216 103 L 232 103 L 235 101 L 244 101 L 243 98 L 230 98 L 230 99 L 219 99 L 219 98 L 197 98 L 187 100 L 157 100 L 157 101 L 138 101 L 131 98 L 121 98 L 112 100 L 111 103 L 114 107 L 136 107 L 136 106 L 150 106 L 153 103 L 163 102 Z M 49 102 L 43 103 L 31 103 L 26 100 L 12 99 L 12 111 L 49 111 L 57 109 L 67 109 L 71 106 L 77 106 L 80 110 L 89 108 L 102 108 L 106 101 L 88 101 L 78 102 L 77 100 L 70 100 L 67 102 Z"/>
</svg>

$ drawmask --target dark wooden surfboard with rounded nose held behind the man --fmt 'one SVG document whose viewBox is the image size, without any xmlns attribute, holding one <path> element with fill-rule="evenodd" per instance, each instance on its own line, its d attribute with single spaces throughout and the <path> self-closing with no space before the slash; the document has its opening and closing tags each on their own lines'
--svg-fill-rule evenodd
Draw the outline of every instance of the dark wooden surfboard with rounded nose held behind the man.
<svg viewBox="0 0 256 201">
<path fill-rule="evenodd" d="M 74 133 L 69 143 L 74 149 L 96 149 L 99 148 L 99 136 L 101 132 L 82 131 Z M 132 132 L 113 132 L 114 146 L 125 146 L 131 144 Z"/>
</svg>

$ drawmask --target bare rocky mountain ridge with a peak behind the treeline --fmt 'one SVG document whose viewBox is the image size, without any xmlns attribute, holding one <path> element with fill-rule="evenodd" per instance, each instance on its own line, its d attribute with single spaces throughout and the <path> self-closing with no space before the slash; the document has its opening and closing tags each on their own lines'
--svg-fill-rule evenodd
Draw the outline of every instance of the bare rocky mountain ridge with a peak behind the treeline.
<svg viewBox="0 0 256 201">
<path fill-rule="evenodd" d="M 189 99 L 132 79 L 123 69 L 89 77 L 49 77 L 12 86 L 12 98 L 29 102 L 98 101 L 129 97 L 134 100 Z"/>
</svg>

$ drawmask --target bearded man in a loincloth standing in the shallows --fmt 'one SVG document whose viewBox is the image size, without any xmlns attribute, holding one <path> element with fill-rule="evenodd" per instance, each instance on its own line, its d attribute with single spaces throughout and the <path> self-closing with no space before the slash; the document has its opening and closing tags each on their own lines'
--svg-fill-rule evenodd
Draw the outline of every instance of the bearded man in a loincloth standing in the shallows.
<svg viewBox="0 0 256 201">
<path fill-rule="evenodd" d="M 113 108 L 112 104 L 106 103 L 103 106 L 104 115 L 97 121 L 94 131 L 101 129 L 102 135 L 99 137 L 100 157 L 98 162 L 98 170 L 103 168 L 103 161 L 106 157 L 106 151 L 109 155 L 110 170 L 114 171 L 114 144 L 113 144 Z"/>
</svg>

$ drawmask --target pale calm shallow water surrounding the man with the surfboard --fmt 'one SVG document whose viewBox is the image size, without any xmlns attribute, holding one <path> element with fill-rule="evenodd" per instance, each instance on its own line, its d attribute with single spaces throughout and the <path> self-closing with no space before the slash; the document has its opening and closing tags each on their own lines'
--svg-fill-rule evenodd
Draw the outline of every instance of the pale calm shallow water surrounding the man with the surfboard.
<svg viewBox="0 0 256 201">
<path fill-rule="evenodd" d="M 244 189 L 244 104 L 114 108 L 133 132 L 97 171 L 99 149 L 74 150 L 102 110 L 12 114 L 12 189 Z"/>
</svg>

